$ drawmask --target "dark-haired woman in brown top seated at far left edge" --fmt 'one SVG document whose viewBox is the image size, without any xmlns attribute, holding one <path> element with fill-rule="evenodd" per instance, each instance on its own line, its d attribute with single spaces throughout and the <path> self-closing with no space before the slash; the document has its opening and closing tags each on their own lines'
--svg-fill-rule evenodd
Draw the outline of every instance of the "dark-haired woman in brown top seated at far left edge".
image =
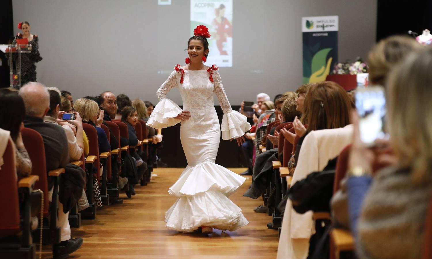
<svg viewBox="0 0 432 259">
<path fill-rule="evenodd" d="M 22 142 L 22 120 L 25 117 L 25 106 L 21 96 L 9 89 L 0 89 L 0 129 L 10 131 L 10 138 L 16 149 L 17 180 L 28 177 L 32 173 L 32 161 Z M 7 161 L 3 161 L 7 162 Z"/>
</svg>

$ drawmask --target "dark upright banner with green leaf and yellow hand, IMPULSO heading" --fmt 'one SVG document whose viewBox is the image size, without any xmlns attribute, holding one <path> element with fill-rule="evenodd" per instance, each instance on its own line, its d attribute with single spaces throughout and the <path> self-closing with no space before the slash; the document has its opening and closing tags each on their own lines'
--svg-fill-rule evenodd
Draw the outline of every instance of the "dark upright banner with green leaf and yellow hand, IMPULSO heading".
<svg viewBox="0 0 432 259">
<path fill-rule="evenodd" d="M 338 16 L 302 18 L 303 83 L 321 82 L 337 63 Z"/>
</svg>

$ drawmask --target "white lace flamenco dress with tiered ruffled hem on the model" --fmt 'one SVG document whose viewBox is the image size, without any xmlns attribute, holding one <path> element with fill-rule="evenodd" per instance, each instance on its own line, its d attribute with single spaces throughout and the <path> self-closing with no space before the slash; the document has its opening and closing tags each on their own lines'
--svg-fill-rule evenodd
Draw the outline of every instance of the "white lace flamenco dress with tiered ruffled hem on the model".
<svg viewBox="0 0 432 259">
<path fill-rule="evenodd" d="M 178 199 L 165 213 L 166 227 L 176 231 L 193 232 L 201 226 L 234 231 L 249 223 L 241 208 L 228 199 L 245 178 L 215 164 L 215 160 L 221 130 L 222 139 L 229 140 L 243 136 L 251 125 L 244 115 L 232 111 L 217 67 L 213 68 L 208 72 L 177 66 L 178 71 L 174 71 L 157 91 L 159 103 L 147 122 L 154 128 L 181 122 L 180 139 L 187 167 L 168 190 Z M 166 98 L 166 93 L 175 87 L 180 90 L 183 109 L 191 112 L 189 120 L 174 119 L 182 110 Z M 215 93 L 224 113 L 222 127 L 214 108 Z"/>
</svg>

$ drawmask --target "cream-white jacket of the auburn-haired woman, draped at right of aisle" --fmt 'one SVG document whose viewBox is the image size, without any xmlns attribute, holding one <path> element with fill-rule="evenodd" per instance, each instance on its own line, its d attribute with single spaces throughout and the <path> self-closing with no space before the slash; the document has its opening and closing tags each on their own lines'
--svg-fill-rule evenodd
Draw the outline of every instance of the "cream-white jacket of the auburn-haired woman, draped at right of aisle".
<svg viewBox="0 0 432 259">
<path fill-rule="evenodd" d="M 305 179 L 312 172 L 322 171 L 328 161 L 337 157 L 352 139 L 353 125 L 311 131 L 300 149 L 291 185 Z M 305 214 L 295 212 L 291 200 L 287 200 L 277 251 L 278 259 L 306 259 L 309 239 L 315 232 L 312 216 L 312 211 Z"/>
</svg>

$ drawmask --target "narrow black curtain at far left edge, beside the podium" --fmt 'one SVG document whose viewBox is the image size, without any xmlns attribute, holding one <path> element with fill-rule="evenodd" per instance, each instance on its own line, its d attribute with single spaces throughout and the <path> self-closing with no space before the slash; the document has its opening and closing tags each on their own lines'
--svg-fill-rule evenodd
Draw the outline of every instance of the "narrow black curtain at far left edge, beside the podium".
<svg viewBox="0 0 432 259">
<path fill-rule="evenodd" d="M 2 0 L 0 6 L 0 44 L 8 44 L 13 40 L 12 0 Z M 1 51 L 0 59 L 0 87 L 9 87 L 9 66 Z"/>
</svg>

